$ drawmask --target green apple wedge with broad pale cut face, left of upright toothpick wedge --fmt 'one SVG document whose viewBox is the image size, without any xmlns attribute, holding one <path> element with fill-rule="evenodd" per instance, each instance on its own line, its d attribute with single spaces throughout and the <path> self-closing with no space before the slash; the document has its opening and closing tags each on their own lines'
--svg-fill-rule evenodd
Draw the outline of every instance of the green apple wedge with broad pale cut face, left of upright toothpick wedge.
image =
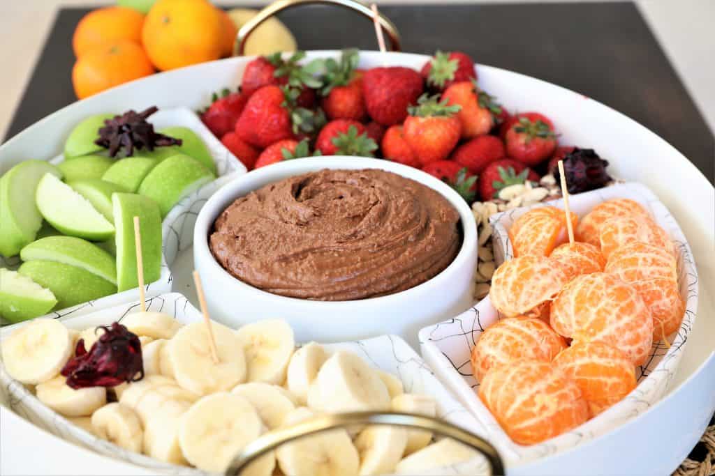
<svg viewBox="0 0 715 476">
<path fill-rule="evenodd" d="M 37 208 L 51 226 L 65 235 L 107 240 L 114 233 L 114 226 L 72 188 L 46 173 L 37 186 Z"/>
</svg>

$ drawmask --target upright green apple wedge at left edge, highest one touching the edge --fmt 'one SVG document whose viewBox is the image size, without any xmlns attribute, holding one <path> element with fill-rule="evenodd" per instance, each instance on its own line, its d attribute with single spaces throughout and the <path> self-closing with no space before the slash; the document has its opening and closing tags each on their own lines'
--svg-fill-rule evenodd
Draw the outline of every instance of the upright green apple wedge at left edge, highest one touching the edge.
<svg viewBox="0 0 715 476">
<path fill-rule="evenodd" d="M 35 191 L 42 176 L 62 173 L 45 161 L 24 161 L 0 178 L 0 255 L 14 256 L 35 239 L 42 216 L 35 205 Z"/>
</svg>

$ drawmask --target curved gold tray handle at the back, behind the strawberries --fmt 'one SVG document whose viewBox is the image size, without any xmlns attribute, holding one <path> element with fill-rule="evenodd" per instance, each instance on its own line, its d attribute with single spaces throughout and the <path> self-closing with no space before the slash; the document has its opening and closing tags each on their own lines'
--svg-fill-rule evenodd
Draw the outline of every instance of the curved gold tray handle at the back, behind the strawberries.
<svg viewBox="0 0 715 476">
<path fill-rule="evenodd" d="M 277 14 L 279 11 L 290 9 L 293 6 L 308 5 L 308 4 L 333 4 L 345 7 L 347 9 L 358 11 L 358 13 L 363 14 L 363 16 L 373 19 L 373 11 L 370 10 L 370 6 L 358 0 L 278 0 L 274 1 L 272 4 L 266 6 L 264 9 L 259 11 L 256 16 L 246 22 L 236 35 L 236 41 L 234 43 L 233 54 L 234 56 L 243 56 L 243 51 L 246 46 L 246 40 L 256 29 L 257 26 L 262 24 L 271 16 Z M 383 31 L 390 37 L 390 44 L 392 44 L 391 51 L 400 51 L 400 34 L 398 29 L 395 28 L 390 19 L 387 16 L 380 14 L 380 26 L 383 27 Z"/>
</svg>

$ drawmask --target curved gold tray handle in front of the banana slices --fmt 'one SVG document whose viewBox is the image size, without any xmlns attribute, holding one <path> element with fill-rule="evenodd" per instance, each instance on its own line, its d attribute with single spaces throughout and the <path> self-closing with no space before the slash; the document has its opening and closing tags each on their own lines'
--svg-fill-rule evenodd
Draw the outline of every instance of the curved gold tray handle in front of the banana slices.
<svg viewBox="0 0 715 476">
<path fill-rule="evenodd" d="M 297 438 L 334 430 L 335 428 L 366 424 L 417 428 L 419 430 L 429 430 L 440 436 L 450 437 L 480 452 L 489 462 L 493 475 L 504 474 L 501 456 L 499 456 L 496 448 L 483 438 L 443 420 L 400 412 L 335 413 L 303 420 L 280 430 L 272 430 L 257 440 L 250 442 L 234 458 L 225 474 L 229 476 L 240 475 L 241 470 L 256 458 Z"/>
</svg>

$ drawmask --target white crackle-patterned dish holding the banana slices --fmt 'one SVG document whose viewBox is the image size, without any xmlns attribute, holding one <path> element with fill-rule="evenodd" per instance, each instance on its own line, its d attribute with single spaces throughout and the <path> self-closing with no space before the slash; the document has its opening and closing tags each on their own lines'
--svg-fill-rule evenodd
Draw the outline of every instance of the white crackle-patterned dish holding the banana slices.
<svg viewBox="0 0 715 476">
<path fill-rule="evenodd" d="M 82 330 L 96 325 L 107 325 L 114 320 L 121 322 L 124 315 L 138 310 L 139 303 L 126 303 L 112 308 L 99 310 L 87 315 L 66 316 L 59 318 L 68 328 Z M 202 320 L 202 315 L 183 295 L 169 293 L 147 299 L 147 310 L 164 312 L 172 315 L 181 323 L 192 323 Z M 0 330 L 0 339 L 24 325 L 24 323 L 7 326 Z M 402 380 L 405 392 L 432 395 L 437 400 L 438 417 L 465 428 L 476 435 L 485 435 L 485 429 L 458 402 L 453 395 L 439 382 L 428 366 L 415 350 L 396 335 L 382 335 L 376 338 L 344 343 L 325 345 L 330 351 L 349 350 L 365 359 L 373 368 L 380 368 L 392 373 Z M 145 455 L 129 452 L 116 445 L 101 440 L 82 428 L 73 425 L 58 413 L 40 402 L 21 383 L 10 378 L 3 365 L 0 365 L 0 393 L 5 393 L 11 410 L 26 420 L 34 423 L 53 435 L 74 442 L 101 455 L 129 462 L 144 468 L 160 472 L 182 475 L 207 474 L 189 467 L 170 465 Z M 68 474 L 71 473 L 67 461 Z M 463 474 L 476 475 L 488 472 L 488 462 L 483 457 L 477 457 L 454 467 L 442 468 L 431 474 Z M 430 473 L 425 473 L 430 474 Z"/>
</svg>

